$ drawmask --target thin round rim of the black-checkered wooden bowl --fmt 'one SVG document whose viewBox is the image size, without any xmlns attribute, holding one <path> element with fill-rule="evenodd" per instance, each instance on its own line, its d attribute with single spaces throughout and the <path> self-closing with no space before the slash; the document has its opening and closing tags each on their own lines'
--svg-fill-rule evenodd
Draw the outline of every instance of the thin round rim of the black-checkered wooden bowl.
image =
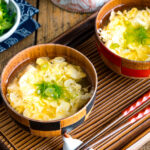
<svg viewBox="0 0 150 150">
<path fill-rule="evenodd" d="M 68 117 L 65 117 L 65 118 L 62 118 L 62 119 L 56 119 L 56 120 L 47 120 L 47 121 L 44 121 L 44 120 L 36 120 L 36 119 L 32 119 L 32 118 L 29 118 L 29 117 L 26 117 L 20 113 L 18 113 L 8 102 L 6 96 L 3 94 L 2 92 L 2 77 L 4 75 L 4 72 L 5 72 L 5 68 L 9 65 L 9 63 L 11 62 L 12 59 L 14 59 L 17 55 L 21 54 L 22 52 L 24 51 L 27 51 L 29 49 L 33 49 L 33 48 L 36 48 L 36 47 L 40 47 L 40 46 L 44 46 L 44 45 L 54 45 L 54 46 L 61 46 L 61 47 L 66 47 L 66 48 L 69 48 L 71 49 L 72 51 L 75 51 L 75 53 L 78 53 L 79 55 L 82 55 L 82 57 L 84 57 L 86 59 L 86 61 L 88 61 L 94 71 L 94 74 L 95 74 L 95 86 L 93 86 L 93 94 L 91 96 L 91 98 L 89 99 L 89 101 L 80 109 L 78 110 L 76 113 L 74 113 L 73 115 L 71 116 L 68 116 Z M 16 55 L 14 55 L 8 62 L 7 64 L 5 65 L 3 71 L 2 71 L 2 75 L 1 75 L 1 83 L 0 83 L 0 87 L 1 87 L 1 90 L 0 90 L 0 93 L 2 95 L 2 99 L 3 99 L 3 102 L 7 105 L 7 107 L 9 107 L 9 109 L 11 109 L 11 111 L 13 111 L 16 115 L 19 115 L 20 117 L 23 117 L 25 118 L 26 120 L 28 121 L 34 121 L 34 122 L 39 122 L 39 123 L 54 123 L 54 122 L 59 122 L 59 121 L 62 121 L 62 120 L 65 120 L 65 119 L 69 119 L 69 118 L 72 118 L 74 117 L 75 115 L 77 115 L 78 113 L 80 113 L 83 109 L 85 109 L 91 101 L 94 100 L 94 97 L 96 96 L 96 91 L 97 91 L 97 85 L 98 85 L 98 77 L 97 77 L 97 72 L 96 72 L 96 69 L 94 67 L 94 65 L 92 64 L 92 62 L 84 55 L 82 54 L 81 52 L 79 52 L 78 50 L 74 49 L 74 48 L 71 48 L 69 46 L 66 46 L 66 45 L 61 45 L 61 44 L 54 44 L 54 43 L 50 43 L 50 44 L 38 44 L 38 45 L 34 45 L 34 46 L 30 46 L 22 51 L 20 51 L 19 53 L 17 53 Z"/>
</svg>

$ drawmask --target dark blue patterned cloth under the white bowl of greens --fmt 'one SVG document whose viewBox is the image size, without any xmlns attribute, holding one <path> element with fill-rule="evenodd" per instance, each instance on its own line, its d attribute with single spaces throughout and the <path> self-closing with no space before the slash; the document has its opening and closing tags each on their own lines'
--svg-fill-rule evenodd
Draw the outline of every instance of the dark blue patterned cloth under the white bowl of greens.
<svg viewBox="0 0 150 150">
<path fill-rule="evenodd" d="M 8 39 L 0 43 L 0 52 L 8 49 L 20 40 L 24 39 L 40 27 L 32 16 L 39 12 L 38 9 L 27 3 L 25 0 L 15 0 L 21 10 L 21 20 L 18 29 Z"/>
</svg>

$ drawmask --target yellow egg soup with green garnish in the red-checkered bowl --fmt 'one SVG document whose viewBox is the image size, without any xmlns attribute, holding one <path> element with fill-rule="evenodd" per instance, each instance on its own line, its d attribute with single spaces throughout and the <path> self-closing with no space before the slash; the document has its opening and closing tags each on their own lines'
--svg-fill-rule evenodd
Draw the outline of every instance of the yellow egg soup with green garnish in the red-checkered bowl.
<svg viewBox="0 0 150 150">
<path fill-rule="evenodd" d="M 150 61 L 150 9 L 112 11 L 109 23 L 98 30 L 112 52 L 136 61 Z"/>
</svg>

